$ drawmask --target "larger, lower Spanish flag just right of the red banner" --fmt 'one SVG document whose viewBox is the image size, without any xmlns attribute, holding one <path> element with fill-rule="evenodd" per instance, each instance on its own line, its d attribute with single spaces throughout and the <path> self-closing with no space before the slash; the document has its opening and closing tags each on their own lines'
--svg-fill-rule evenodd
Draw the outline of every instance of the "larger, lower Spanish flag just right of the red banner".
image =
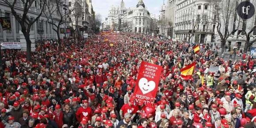
<svg viewBox="0 0 256 128">
<path fill-rule="evenodd" d="M 184 80 L 188 80 L 192 78 L 192 74 L 194 72 L 196 62 L 189 64 L 188 66 L 181 69 L 181 78 Z"/>
</svg>

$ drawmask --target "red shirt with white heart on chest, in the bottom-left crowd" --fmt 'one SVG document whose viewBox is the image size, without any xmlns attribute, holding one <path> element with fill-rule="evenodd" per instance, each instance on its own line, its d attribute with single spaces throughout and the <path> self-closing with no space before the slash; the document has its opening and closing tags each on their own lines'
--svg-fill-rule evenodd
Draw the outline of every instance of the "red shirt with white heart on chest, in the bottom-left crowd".
<svg viewBox="0 0 256 128">
<path fill-rule="evenodd" d="M 75 113 L 75 117 L 78 120 L 78 122 L 81 122 L 83 117 L 88 117 L 88 119 L 91 120 L 91 116 L 92 109 L 90 107 L 87 107 L 85 109 L 83 107 L 80 107 Z"/>
</svg>

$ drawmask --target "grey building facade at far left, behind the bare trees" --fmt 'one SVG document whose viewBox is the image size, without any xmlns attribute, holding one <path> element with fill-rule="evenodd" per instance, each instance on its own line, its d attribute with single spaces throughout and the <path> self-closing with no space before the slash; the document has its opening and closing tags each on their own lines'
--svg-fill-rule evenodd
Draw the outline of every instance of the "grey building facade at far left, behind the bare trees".
<svg viewBox="0 0 256 128">
<path fill-rule="evenodd" d="M 48 2 L 46 2 L 48 3 Z M 68 4 L 68 2 L 66 3 Z M 60 7 L 63 8 L 63 7 Z M 15 11 L 22 15 L 23 14 L 23 4 L 17 2 Z M 28 12 L 28 17 L 34 19 L 40 13 L 40 6 L 37 4 L 32 4 L 30 11 Z M 64 13 L 64 10 L 62 11 Z M 9 8 L 3 1 L 0 1 L 0 17 L 8 17 L 11 21 L 11 30 L 3 30 L 0 25 L 0 42 L 10 42 L 10 41 L 20 41 L 24 39 L 23 33 L 21 32 L 21 26 L 15 17 L 11 14 L 11 8 Z M 53 13 L 55 20 L 53 23 L 58 23 L 60 20 L 60 15 L 56 12 Z M 64 24 L 61 26 L 64 28 Z M 60 34 L 63 38 L 64 34 Z M 45 14 L 43 13 L 41 17 L 31 26 L 30 29 L 30 39 L 32 43 L 41 39 L 56 39 L 57 34 L 53 30 L 53 25 L 48 23 Z M 32 46 L 33 47 L 33 46 Z"/>
</svg>

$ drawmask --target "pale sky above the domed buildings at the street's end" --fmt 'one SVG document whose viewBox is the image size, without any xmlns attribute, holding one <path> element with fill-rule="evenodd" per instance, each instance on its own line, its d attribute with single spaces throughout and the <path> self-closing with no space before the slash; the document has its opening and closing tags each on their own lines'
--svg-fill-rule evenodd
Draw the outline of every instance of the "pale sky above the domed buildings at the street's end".
<svg viewBox="0 0 256 128">
<path fill-rule="evenodd" d="M 139 0 L 124 0 L 126 8 L 136 7 Z M 165 0 L 166 1 L 166 0 Z M 160 8 L 163 4 L 163 0 L 143 0 L 147 10 L 151 13 L 151 17 L 155 15 L 157 18 L 160 14 Z M 102 16 L 102 22 L 107 17 L 109 8 L 114 6 L 120 6 L 121 0 L 92 0 L 93 9 L 96 14 Z"/>
</svg>

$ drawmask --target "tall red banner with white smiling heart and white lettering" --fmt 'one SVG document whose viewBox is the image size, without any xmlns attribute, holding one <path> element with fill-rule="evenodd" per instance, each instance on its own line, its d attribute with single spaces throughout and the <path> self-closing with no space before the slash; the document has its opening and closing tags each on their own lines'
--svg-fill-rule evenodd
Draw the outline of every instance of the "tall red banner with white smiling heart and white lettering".
<svg viewBox="0 0 256 128">
<path fill-rule="evenodd" d="M 134 89 L 136 99 L 149 101 L 155 98 L 161 72 L 162 66 L 142 61 Z"/>
</svg>

